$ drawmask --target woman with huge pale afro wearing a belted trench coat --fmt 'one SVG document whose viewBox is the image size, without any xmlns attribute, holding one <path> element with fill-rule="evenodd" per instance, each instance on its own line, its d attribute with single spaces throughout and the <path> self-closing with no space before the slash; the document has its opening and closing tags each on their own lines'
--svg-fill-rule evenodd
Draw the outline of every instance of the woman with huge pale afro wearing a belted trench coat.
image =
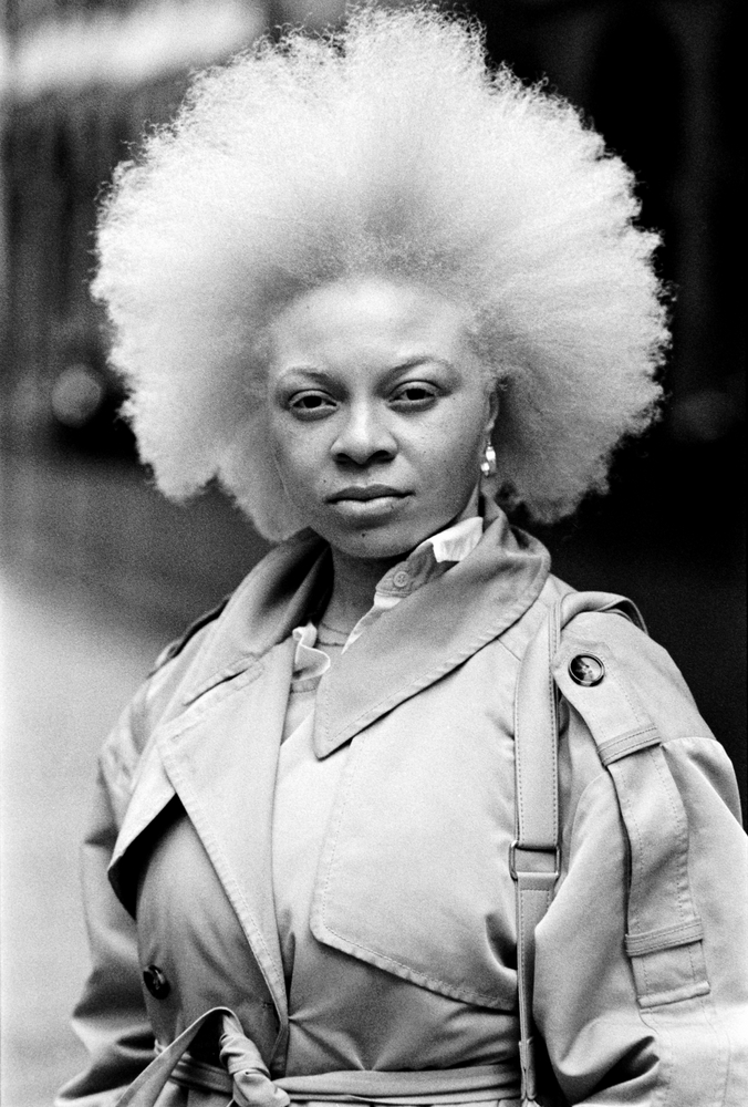
<svg viewBox="0 0 748 1107">
<path fill-rule="evenodd" d="M 495 501 L 569 514 L 656 411 L 636 211 L 569 105 L 429 9 L 202 76 L 120 172 L 95 291 L 142 455 L 279 545 L 104 746 L 60 1104 L 511 1104 L 520 1069 L 549 1103 L 742 1101 L 729 764 L 630 619 L 579 614 L 530 680 L 549 612 L 616 600 Z M 558 785 L 516 795 L 551 661 Z"/>
</svg>

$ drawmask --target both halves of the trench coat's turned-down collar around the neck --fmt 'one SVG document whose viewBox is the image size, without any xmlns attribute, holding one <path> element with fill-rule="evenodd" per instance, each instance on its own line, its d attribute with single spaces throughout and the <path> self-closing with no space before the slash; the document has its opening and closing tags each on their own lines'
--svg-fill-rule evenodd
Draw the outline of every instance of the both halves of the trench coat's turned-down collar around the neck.
<svg viewBox="0 0 748 1107">
<path fill-rule="evenodd" d="M 548 551 L 512 529 L 495 504 L 485 506 L 486 531 L 472 552 L 372 625 L 323 677 L 316 702 L 319 756 L 450 672 L 537 599 L 550 571 Z M 177 711 L 288 638 L 324 600 L 330 583 L 329 547 L 313 531 L 272 550 L 212 624 L 179 684 Z"/>
</svg>

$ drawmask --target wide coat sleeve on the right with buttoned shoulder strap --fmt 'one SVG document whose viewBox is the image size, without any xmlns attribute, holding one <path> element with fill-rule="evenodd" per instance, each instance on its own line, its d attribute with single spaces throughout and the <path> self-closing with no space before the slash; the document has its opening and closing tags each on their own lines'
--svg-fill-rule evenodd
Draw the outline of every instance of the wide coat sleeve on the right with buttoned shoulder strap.
<svg viewBox="0 0 748 1107">
<path fill-rule="evenodd" d="M 569 677 L 576 653 L 605 665 Z M 681 673 L 624 620 L 557 656 L 562 857 L 533 1013 L 570 1104 L 748 1103 L 748 857 L 735 775 Z"/>
</svg>

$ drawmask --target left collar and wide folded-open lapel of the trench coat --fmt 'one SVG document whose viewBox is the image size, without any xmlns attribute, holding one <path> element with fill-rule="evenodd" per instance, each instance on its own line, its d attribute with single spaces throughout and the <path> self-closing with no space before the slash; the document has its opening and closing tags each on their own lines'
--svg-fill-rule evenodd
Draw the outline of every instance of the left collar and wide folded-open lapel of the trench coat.
<svg viewBox="0 0 748 1107">
<path fill-rule="evenodd" d="M 287 1000 L 272 892 L 272 798 L 293 664 L 289 634 L 309 618 L 326 571 L 326 546 L 307 531 L 272 550 L 237 589 L 169 694 L 110 869 L 115 891 L 133 911 L 141 836 L 178 796 L 281 1025 Z"/>
</svg>

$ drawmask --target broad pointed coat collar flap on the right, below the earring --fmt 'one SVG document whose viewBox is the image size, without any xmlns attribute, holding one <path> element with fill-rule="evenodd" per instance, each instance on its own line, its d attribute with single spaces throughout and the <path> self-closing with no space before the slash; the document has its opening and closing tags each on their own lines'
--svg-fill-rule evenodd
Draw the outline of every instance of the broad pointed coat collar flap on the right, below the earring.
<svg viewBox="0 0 748 1107">
<path fill-rule="evenodd" d="M 544 547 L 498 513 L 476 549 L 362 634 L 323 676 L 314 748 L 332 753 L 515 623 L 550 569 Z"/>
</svg>

